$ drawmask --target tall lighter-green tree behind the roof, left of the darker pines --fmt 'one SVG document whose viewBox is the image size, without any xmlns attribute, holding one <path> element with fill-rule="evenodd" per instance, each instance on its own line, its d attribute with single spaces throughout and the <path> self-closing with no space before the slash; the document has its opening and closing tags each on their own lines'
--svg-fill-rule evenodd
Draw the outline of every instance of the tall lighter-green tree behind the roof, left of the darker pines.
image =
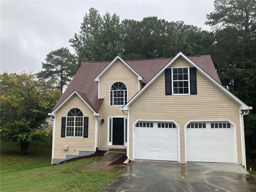
<svg viewBox="0 0 256 192">
<path fill-rule="evenodd" d="M 79 34 L 69 42 L 75 49 L 78 62 L 112 60 L 122 52 L 119 16 L 106 12 L 103 18 L 95 8 L 85 14 Z"/>
</svg>

